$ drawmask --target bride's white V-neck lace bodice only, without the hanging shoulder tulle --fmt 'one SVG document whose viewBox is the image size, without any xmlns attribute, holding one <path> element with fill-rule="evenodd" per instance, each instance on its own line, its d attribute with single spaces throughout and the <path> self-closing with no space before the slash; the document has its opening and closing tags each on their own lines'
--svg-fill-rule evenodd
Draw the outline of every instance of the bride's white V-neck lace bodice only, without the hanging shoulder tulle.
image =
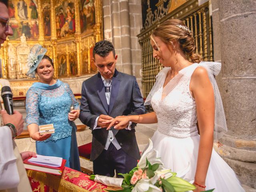
<svg viewBox="0 0 256 192">
<path fill-rule="evenodd" d="M 164 135 L 186 138 L 198 134 L 196 103 L 189 90 L 194 69 L 194 64 L 182 69 L 165 88 L 162 81 L 152 97 L 151 104 L 157 115 L 158 131 Z M 170 68 L 165 68 L 162 75 L 166 77 L 168 70 Z M 167 89 L 170 91 L 165 91 Z"/>
</svg>

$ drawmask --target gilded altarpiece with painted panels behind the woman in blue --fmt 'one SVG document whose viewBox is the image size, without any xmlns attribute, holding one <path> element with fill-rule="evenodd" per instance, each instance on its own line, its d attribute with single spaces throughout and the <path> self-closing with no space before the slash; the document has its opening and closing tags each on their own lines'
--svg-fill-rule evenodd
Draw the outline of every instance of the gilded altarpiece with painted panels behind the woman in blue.
<svg viewBox="0 0 256 192">
<path fill-rule="evenodd" d="M 14 97 L 26 95 L 36 79 L 26 76 L 30 48 L 41 44 L 54 62 L 54 78 L 96 72 L 95 42 L 103 39 L 101 0 L 9 0 L 9 36 L 0 49 L 0 77 L 8 79 Z"/>
</svg>

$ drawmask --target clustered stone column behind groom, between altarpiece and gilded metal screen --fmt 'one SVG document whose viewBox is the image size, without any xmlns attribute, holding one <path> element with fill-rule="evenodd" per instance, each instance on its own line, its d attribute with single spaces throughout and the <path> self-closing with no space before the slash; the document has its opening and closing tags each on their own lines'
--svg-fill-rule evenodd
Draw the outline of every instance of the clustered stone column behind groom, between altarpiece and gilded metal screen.
<svg viewBox="0 0 256 192">
<path fill-rule="evenodd" d="M 141 2 L 103 0 L 104 39 L 118 55 L 117 70 L 136 76 L 141 87 L 141 49 L 137 35 L 142 27 Z"/>
</svg>

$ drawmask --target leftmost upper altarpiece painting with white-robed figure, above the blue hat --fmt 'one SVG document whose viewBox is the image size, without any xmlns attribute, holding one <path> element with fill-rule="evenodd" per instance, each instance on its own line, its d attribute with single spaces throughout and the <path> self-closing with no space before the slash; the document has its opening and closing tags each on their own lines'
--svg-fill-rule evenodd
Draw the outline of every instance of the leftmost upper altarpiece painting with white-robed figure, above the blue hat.
<svg viewBox="0 0 256 192">
<path fill-rule="evenodd" d="M 8 12 L 13 36 L 10 40 L 19 40 L 24 34 L 27 40 L 38 40 L 38 10 L 36 0 L 10 0 Z"/>
</svg>

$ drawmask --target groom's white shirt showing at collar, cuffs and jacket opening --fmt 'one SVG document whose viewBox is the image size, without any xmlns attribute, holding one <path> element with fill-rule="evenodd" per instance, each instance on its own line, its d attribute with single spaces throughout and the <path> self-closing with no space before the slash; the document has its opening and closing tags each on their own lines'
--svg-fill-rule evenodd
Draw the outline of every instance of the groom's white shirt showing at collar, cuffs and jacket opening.
<svg viewBox="0 0 256 192">
<path fill-rule="evenodd" d="M 103 84 L 105 87 L 109 86 L 110 87 L 110 92 L 105 92 L 105 95 L 106 95 L 106 100 L 107 100 L 107 103 L 109 105 L 110 103 L 110 94 L 111 94 L 111 86 L 112 86 L 112 79 L 108 80 L 108 79 L 105 79 L 104 77 L 102 77 L 102 81 L 103 81 Z M 98 123 L 98 119 L 99 119 L 100 116 L 98 116 L 95 120 L 95 123 L 94 123 L 94 127 L 92 130 L 94 129 L 100 129 L 101 127 L 100 126 L 97 126 L 97 123 Z M 129 122 L 128 126 L 125 128 L 125 129 L 128 129 L 128 130 L 131 130 L 131 125 L 132 125 L 132 122 Z M 112 143 L 117 150 L 119 150 L 121 148 L 120 144 L 117 142 L 116 140 L 116 137 L 114 136 L 112 130 L 108 130 L 108 139 L 107 139 L 107 142 L 105 144 L 105 150 L 108 150 L 108 147 L 110 145 L 110 143 Z"/>
</svg>

